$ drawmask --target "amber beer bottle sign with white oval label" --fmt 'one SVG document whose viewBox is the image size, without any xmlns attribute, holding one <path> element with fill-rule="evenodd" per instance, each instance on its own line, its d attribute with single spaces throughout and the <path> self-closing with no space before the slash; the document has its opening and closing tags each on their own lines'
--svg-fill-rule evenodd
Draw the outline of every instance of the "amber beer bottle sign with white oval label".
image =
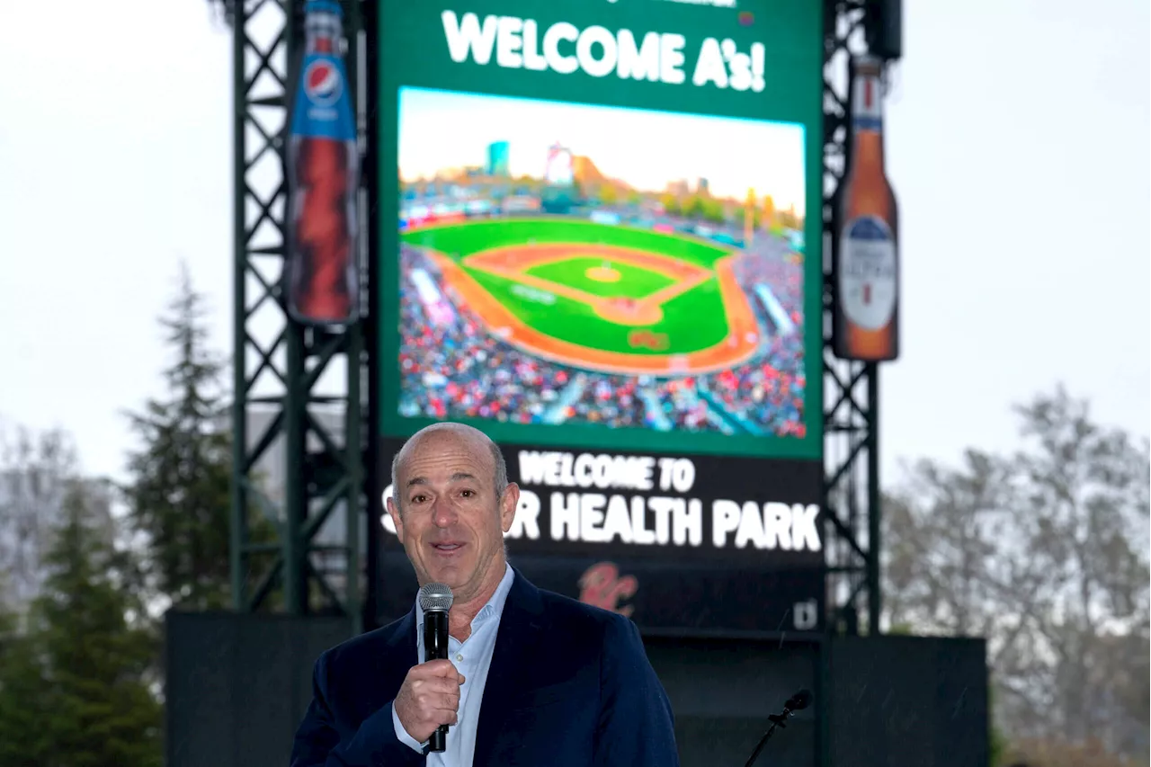
<svg viewBox="0 0 1151 767">
<path fill-rule="evenodd" d="M 899 356 L 895 196 L 883 157 L 882 67 L 857 59 L 852 78 L 852 147 L 839 195 L 832 342 L 841 359 Z"/>
</svg>

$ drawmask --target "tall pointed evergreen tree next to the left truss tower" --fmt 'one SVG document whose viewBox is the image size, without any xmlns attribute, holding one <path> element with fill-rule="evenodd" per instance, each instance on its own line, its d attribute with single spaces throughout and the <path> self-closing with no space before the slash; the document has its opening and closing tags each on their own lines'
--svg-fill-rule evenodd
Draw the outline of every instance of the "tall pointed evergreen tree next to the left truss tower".
<svg viewBox="0 0 1151 767">
<path fill-rule="evenodd" d="M 231 433 L 220 386 L 221 360 L 209 351 L 204 298 L 182 269 L 178 293 L 161 319 L 175 359 L 168 392 L 131 416 L 143 448 L 131 456 L 125 489 L 148 546 L 154 588 L 185 609 L 229 606 Z"/>
</svg>

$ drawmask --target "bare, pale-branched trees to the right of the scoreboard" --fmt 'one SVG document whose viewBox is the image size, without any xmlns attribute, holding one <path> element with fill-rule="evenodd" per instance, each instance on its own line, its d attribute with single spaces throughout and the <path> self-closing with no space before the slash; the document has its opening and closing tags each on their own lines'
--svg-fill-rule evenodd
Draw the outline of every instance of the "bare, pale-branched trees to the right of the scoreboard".
<svg viewBox="0 0 1151 767">
<path fill-rule="evenodd" d="M 986 638 L 1003 759 L 1151 764 L 1151 442 L 1064 387 L 1014 416 L 1017 450 L 887 488 L 886 620 Z"/>
</svg>

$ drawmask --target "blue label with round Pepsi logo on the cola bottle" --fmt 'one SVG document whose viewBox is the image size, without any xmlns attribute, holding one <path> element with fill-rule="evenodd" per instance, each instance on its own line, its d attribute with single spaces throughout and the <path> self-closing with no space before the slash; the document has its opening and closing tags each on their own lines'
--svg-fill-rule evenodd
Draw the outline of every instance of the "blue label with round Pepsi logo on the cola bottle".
<svg viewBox="0 0 1151 767">
<path fill-rule="evenodd" d="M 304 58 L 291 121 L 292 136 L 356 141 L 356 121 L 343 61 L 330 53 Z"/>
</svg>

